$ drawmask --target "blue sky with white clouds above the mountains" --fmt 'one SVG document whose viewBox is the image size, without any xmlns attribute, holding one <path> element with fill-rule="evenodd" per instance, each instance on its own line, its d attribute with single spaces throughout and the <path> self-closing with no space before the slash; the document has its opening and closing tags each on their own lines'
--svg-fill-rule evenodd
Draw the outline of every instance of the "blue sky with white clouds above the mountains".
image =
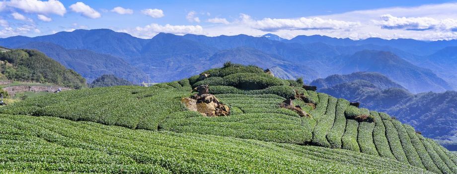
<svg viewBox="0 0 457 174">
<path fill-rule="evenodd" d="M 266 33 L 457 39 L 455 0 L 0 0 L 0 37 L 109 28 L 136 37 Z"/>
</svg>

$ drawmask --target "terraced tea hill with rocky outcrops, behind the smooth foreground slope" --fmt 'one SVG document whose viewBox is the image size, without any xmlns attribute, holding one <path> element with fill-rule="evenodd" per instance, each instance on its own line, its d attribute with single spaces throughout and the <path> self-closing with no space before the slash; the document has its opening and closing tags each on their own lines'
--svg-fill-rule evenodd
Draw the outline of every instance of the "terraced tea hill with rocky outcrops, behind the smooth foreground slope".
<svg viewBox="0 0 457 174">
<path fill-rule="evenodd" d="M 237 87 L 240 83 L 281 84 L 252 90 L 233 86 L 210 86 L 210 93 L 216 94 L 222 103 L 230 107 L 229 116 L 202 116 L 198 112 L 187 110 L 180 103 L 181 97 L 191 95 L 192 85 L 205 81 L 205 77 L 199 76 L 149 88 L 107 87 L 65 91 L 27 99 L 3 107 L 0 111 L 14 115 L 29 114 L 92 121 L 131 129 L 313 145 L 326 147 L 328 150 L 341 148 L 367 154 L 372 158 L 383 157 L 399 165 L 410 165 L 438 174 L 457 173 L 456 155 L 385 113 L 359 109 L 351 106 L 347 100 L 306 91 L 292 85 L 293 82 L 272 80 L 272 77 L 263 75 L 263 72 L 262 75 L 250 77 L 264 78 L 243 80 L 243 76 L 236 75 L 239 73 L 237 71 L 241 70 L 253 70 L 250 73 L 257 71 L 248 67 L 209 72 L 217 75 L 212 76 L 213 79 L 233 78 L 232 85 Z M 209 78 L 211 77 L 206 79 Z M 298 94 L 305 99 L 294 99 L 293 105 L 299 105 L 310 117 L 301 117 L 296 111 L 280 107 L 280 103 L 285 99 L 295 98 Z"/>
</svg>

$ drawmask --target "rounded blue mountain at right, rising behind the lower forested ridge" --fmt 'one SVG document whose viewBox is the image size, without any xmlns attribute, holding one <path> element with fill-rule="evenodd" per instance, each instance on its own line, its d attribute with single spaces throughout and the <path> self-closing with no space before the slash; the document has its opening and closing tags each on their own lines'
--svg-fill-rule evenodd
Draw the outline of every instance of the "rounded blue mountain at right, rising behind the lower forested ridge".
<svg viewBox="0 0 457 174">
<path fill-rule="evenodd" d="M 378 72 L 414 93 L 453 89 L 431 70 L 417 67 L 390 52 L 364 50 L 345 59 L 341 74 Z"/>
</svg>

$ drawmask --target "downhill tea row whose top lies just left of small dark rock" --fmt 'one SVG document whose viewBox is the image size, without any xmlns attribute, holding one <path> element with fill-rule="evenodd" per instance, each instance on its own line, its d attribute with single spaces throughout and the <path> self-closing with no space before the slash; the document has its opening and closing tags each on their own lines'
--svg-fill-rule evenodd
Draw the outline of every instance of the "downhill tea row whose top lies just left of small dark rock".
<svg viewBox="0 0 457 174">
<path fill-rule="evenodd" d="M 341 148 L 341 137 L 343 137 L 344 129 L 346 128 L 346 117 L 344 111 L 349 106 L 349 101 L 338 98 L 336 103 L 335 122 L 333 123 L 330 132 L 327 134 L 328 142 L 332 148 Z"/>
</svg>

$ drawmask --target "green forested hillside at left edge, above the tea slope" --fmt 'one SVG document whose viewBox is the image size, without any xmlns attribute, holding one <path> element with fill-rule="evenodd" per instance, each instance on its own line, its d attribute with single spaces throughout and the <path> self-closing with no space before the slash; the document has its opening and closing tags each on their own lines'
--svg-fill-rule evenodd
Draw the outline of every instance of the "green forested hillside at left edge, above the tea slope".
<svg viewBox="0 0 457 174">
<path fill-rule="evenodd" d="M 0 71 L 6 80 L 50 83 L 64 87 L 86 87 L 85 79 L 73 70 L 35 50 L 0 52 Z"/>
</svg>

